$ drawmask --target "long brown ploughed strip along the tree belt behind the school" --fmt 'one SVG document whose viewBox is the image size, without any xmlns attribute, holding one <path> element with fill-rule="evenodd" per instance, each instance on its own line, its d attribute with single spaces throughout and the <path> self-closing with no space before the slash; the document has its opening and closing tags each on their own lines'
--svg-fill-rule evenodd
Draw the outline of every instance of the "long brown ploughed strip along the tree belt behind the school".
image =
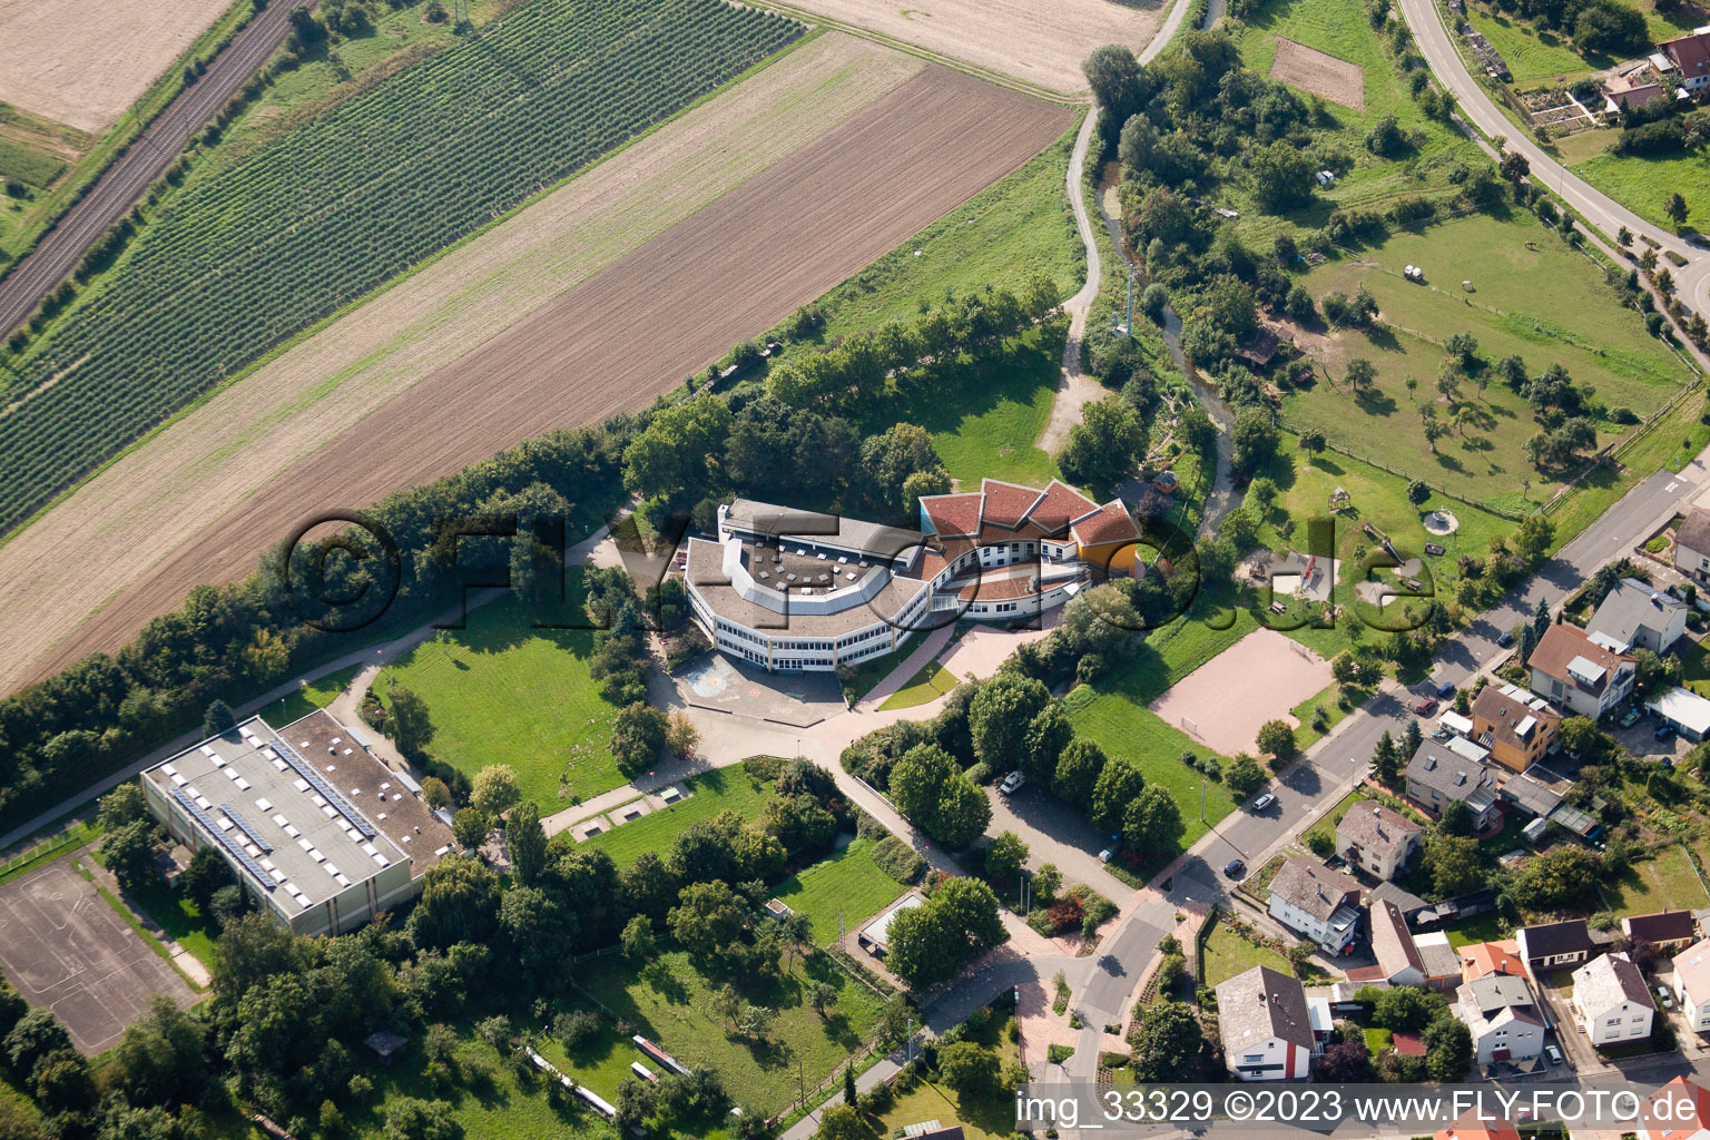
<svg viewBox="0 0 1710 1140">
<path fill-rule="evenodd" d="M 352 424 L 162 552 L 17 680 L 121 644 L 195 583 L 248 574 L 306 516 L 646 405 L 1038 154 L 1070 118 L 1069 108 L 927 68 Z"/>
</svg>

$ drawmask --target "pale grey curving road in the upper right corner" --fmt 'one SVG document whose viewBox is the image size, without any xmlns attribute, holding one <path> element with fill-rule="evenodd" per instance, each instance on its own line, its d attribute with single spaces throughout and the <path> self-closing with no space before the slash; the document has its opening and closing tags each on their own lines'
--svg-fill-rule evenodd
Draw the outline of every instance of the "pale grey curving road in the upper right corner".
<svg viewBox="0 0 1710 1140">
<path fill-rule="evenodd" d="M 1578 176 L 1548 156 L 1525 132 L 1518 130 L 1496 108 L 1484 87 L 1467 72 L 1460 53 L 1450 39 L 1450 31 L 1443 26 L 1436 9 L 1436 0 L 1400 0 L 1402 17 L 1412 27 L 1412 36 L 1419 51 L 1431 65 L 1431 73 L 1454 97 L 1460 115 L 1486 135 L 1505 135 L 1508 149 L 1525 156 L 1532 164 L 1532 176 L 1554 190 L 1568 205 L 1580 212 L 1592 226 L 1614 241 L 1623 226 L 1635 234 L 1652 238 L 1662 250 L 1672 250 L 1689 258 L 1684 267 L 1671 267 L 1674 280 L 1679 284 L 1681 299 L 1698 313 L 1710 314 L 1710 251 L 1686 244 L 1672 231 L 1652 226 L 1640 215 L 1607 195 L 1594 190 Z"/>
</svg>

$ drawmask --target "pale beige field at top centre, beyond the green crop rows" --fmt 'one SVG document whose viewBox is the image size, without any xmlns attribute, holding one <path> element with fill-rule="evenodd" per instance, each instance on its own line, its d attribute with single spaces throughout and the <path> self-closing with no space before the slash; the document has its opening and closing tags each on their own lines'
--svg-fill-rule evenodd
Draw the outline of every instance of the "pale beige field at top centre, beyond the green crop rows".
<svg viewBox="0 0 1710 1140">
<path fill-rule="evenodd" d="M 793 0 L 797 7 L 857 24 L 975 67 L 1065 94 L 1084 92 L 1081 60 L 1093 48 L 1144 48 L 1163 24 L 1166 0 Z"/>
</svg>

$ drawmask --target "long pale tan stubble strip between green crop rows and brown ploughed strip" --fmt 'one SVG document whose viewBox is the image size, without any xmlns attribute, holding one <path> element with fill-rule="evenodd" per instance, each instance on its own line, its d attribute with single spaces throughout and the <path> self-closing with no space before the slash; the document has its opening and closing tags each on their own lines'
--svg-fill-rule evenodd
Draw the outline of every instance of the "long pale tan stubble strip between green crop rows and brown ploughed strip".
<svg viewBox="0 0 1710 1140">
<path fill-rule="evenodd" d="M 166 426 L 0 547 L 0 600 L 34 615 L 29 638 L 0 646 L 0 689 L 303 455 L 922 67 L 864 39 L 821 36 Z"/>
</svg>

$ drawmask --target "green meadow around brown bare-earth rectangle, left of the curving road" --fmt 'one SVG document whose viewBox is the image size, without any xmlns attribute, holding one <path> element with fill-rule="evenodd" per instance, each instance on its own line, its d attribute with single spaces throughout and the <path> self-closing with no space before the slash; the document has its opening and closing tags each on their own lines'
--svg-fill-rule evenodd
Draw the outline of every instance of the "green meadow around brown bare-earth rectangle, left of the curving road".
<svg viewBox="0 0 1710 1140">
<path fill-rule="evenodd" d="M 1452 190 L 1448 173 L 1459 162 L 1486 161 L 1459 132 L 1428 120 L 1412 101 L 1394 60 L 1373 34 L 1361 0 L 1271 0 L 1238 32 L 1241 62 L 1260 75 L 1271 75 L 1279 50 L 1284 55 L 1293 51 L 1284 41 L 1356 65 L 1365 73 L 1356 106 L 1324 103 L 1330 123 L 1325 142 L 1341 145 L 1354 159 L 1354 167 L 1329 190 L 1315 191 L 1312 203 L 1282 215 L 1260 210 L 1247 200 L 1245 188 L 1229 186 L 1228 195 L 1219 191 L 1241 210 L 1238 227 L 1252 241 L 1269 246 L 1271 234 L 1286 224 L 1317 229 L 1336 209 L 1383 210 L 1397 198 L 1443 193 Z M 1341 75 L 1336 87 L 1353 91 Z M 1407 161 L 1380 159 L 1365 147 L 1366 132 L 1385 115 L 1423 135 L 1423 144 Z"/>
</svg>

